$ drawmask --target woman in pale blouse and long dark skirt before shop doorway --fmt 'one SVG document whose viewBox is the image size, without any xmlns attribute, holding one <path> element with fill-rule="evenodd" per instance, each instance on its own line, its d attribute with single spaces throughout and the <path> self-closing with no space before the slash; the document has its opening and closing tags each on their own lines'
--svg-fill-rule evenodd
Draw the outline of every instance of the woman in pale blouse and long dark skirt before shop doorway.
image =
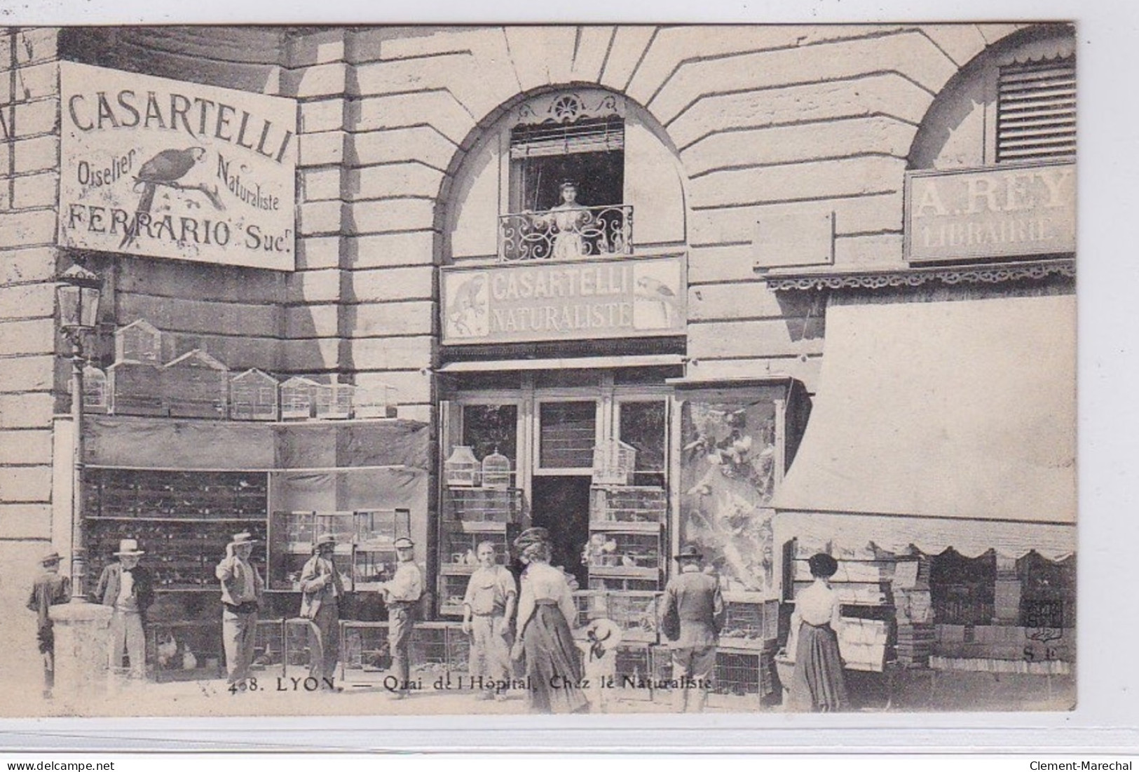
<svg viewBox="0 0 1139 772">
<path fill-rule="evenodd" d="M 549 534 L 528 528 L 515 540 L 526 562 L 518 596 L 518 637 L 510 656 L 526 657 L 527 701 L 534 713 L 584 713 L 589 701 L 581 687 L 581 660 L 570 632 L 576 618 L 565 575 L 550 566 Z"/>
</svg>

